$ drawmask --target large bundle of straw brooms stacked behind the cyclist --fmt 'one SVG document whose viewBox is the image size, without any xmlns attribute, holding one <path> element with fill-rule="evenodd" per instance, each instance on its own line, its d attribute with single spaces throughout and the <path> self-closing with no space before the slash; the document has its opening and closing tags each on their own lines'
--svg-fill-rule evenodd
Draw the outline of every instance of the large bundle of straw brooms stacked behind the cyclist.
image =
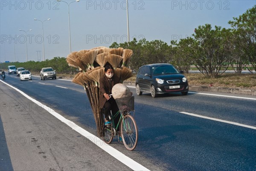
<svg viewBox="0 0 256 171">
<path fill-rule="evenodd" d="M 121 82 L 132 76 L 132 71 L 127 66 L 133 52 L 130 49 L 97 47 L 90 50 L 72 52 L 67 56 L 67 63 L 79 69 L 73 82 L 84 87 L 93 111 L 97 127 L 97 135 L 104 136 L 104 116 L 99 107 L 99 79 L 105 76 L 104 67 L 111 65 L 114 74 Z"/>
</svg>

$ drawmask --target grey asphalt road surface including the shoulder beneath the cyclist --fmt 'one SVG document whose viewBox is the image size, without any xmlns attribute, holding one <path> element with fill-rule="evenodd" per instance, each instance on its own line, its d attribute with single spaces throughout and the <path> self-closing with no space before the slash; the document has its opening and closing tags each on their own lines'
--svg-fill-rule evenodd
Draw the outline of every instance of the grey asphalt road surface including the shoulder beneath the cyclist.
<svg viewBox="0 0 256 171">
<path fill-rule="evenodd" d="M 4 81 L 96 135 L 83 87 L 15 75 Z M 125 156 L 149 170 L 256 170 L 255 96 L 189 92 L 151 98 L 130 90 L 137 148 L 128 151 L 116 139 L 110 145 Z M 0 93 L 0 170 L 132 170 L 3 82 Z"/>
</svg>

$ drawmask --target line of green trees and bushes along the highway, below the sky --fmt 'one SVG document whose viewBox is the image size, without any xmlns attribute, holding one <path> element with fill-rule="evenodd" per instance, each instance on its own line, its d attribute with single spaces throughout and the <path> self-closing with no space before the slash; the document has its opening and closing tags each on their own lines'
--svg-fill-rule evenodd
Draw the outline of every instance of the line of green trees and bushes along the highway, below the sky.
<svg viewBox="0 0 256 171">
<path fill-rule="evenodd" d="M 231 28 L 221 28 L 210 24 L 199 25 L 190 37 L 171 41 L 170 45 L 161 40 L 147 41 L 133 39 L 131 42 L 114 42 L 109 48 L 128 48 L 133 50 L 129 67 L 138 71 L 139 67 L 152 63 L 170 63 L 178 70 L 187 72 L 191 65 L 205 76 L 216 78 L 228 67 L 241 73 L 244 67 L 253 73 L 256 71 L 256 5 L 239 17 L 228 22 Z M 54 57 L 42 62 L 10 62 L 0 64 L 24 67 L 39 72 L 42 67 L 52 67 L 58 73 L 76 73 L 69 67 L 66 58 Z"/>
</svg>

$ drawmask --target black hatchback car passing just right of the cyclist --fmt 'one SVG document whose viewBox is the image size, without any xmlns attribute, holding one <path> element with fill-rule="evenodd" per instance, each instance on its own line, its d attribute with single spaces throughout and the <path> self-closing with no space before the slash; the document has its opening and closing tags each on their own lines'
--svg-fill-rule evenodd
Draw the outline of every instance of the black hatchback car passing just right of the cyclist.
<svg viewBox="0 0 256 171">
<path fill-rule="evenodd" d="M 157 94 L 181 92 L 187 95 L 189 84 L 186 77 L 171 64 L 148 64 L 140 67 L 136 77 L 136 93 Z"/>
</svg>

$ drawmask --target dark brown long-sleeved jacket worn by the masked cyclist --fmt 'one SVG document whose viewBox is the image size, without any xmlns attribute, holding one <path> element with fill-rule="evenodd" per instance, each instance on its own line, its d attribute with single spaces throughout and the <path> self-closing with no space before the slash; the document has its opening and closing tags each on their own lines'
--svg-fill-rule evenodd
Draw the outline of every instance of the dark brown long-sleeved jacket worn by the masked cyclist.
<svg viewBox="0 0 256 171">
<path fill-rule="evenodd" d="M 113 87 L 115 84 L 121 83 L 120 78 L 117 76 L 113 76 L 111 80 L 111 87 Z M 111 94 L 111 87 L 108 81 L 108 77 L 104 76 L 99 79 L 99 107 L 103 108 L 104 104 L 106 103 L 107 99 L 104 97 L 104 93 Z"/>
</svg>

